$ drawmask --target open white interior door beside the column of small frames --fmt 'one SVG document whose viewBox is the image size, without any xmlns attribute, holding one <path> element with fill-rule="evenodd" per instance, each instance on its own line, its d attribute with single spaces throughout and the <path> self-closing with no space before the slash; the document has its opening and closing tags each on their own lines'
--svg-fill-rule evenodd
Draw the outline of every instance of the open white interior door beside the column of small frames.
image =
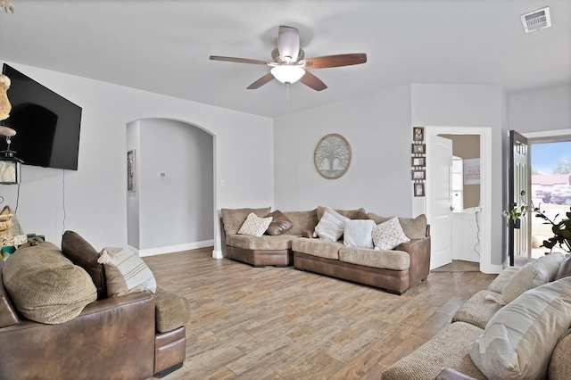
<svg viewBox="0 0 571 380">
<path fill-rule="evenodd" d="M 426 218 L 430 223 L 430 268 L 452 261 L 452 141 L 426 136 Z"/>
</svg>

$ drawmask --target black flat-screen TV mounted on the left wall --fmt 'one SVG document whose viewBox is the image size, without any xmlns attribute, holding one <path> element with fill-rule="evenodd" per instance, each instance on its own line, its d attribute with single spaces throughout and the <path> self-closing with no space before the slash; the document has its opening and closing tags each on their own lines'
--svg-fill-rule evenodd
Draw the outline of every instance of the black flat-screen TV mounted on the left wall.
<svg viewBox="0 0 571 380">
<path fill-rule="evenodd" d="M 4 126 L 16 131 L 10 146 L 16 157 L 28 165 L 77 170 L 81 107 L 6 63 L 2 73 L 12 81 L 12 112 Z"/>
</svg>

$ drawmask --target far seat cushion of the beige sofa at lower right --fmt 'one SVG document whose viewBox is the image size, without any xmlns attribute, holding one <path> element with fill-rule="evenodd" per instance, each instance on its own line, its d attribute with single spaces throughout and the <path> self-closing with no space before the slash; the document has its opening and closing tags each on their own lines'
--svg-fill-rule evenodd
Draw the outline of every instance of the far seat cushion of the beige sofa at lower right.
<svg viewBox="0 0 571 380">
<path fill-rule="evenodd" d="M 452 317 L 452 322 L 466 322 L 480 328 L 485 328 L 490 318 L 501 309 L 501 305 L 492 302 L 486 297 L 500 297 L 500 293 L 481 290 L 474 294 L 467 302 L 460 306 L 459 310 Z"/>
</svg>

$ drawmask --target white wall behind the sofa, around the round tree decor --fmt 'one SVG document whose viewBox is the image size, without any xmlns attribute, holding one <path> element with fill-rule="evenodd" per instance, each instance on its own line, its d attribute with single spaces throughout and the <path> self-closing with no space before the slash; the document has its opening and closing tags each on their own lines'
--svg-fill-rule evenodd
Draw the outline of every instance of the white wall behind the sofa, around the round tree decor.
<svg viewBox="0 0 571 380">
<path fill-rule="evenodd" d="M 278 118 L 275 123 L 275 204 L 283 211 L 319 205 L 364 207 L 411 216 L 410 87 L 396 87 Z M 344 136 L 352 148 L 342 178 L 325 179 L 313 164 L 319 139 Z"/>
</svg>

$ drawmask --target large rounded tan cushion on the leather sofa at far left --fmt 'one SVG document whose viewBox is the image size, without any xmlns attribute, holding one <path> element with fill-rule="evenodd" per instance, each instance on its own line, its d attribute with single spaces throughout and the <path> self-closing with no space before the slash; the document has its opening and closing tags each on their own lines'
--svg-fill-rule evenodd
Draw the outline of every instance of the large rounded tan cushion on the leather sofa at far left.
<svg viewBox="0 0 571 380">
<path fill-rule="evenodd" d="M 16 309 L 40 323 L 67 322 L 97 298 L 85 269 L 51 243 L 17 250 L 4 264 L 3 277 Z"/>
</svg>

